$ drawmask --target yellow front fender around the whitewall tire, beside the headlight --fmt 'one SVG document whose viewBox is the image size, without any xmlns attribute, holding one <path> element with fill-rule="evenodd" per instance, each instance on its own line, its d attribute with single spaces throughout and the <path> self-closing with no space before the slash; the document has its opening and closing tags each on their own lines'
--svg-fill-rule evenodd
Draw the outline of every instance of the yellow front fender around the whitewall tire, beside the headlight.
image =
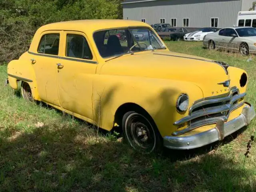
<svg viewBox="0 0 256 192">
<path fill-rule="evenodd" d="M 195 84 L 166 79 L 99 75 L 93 85 L 93 108 L 100 127 L 111 130 L 119 106 L 134 103 L 153 118 L 160 134 L 167 136 L 176 130 L 173 123 L 187 112 L 176 110 L 180 94 L 189 95 L 189 106 L 202 98 L 202 90 Z"/>
</svg>

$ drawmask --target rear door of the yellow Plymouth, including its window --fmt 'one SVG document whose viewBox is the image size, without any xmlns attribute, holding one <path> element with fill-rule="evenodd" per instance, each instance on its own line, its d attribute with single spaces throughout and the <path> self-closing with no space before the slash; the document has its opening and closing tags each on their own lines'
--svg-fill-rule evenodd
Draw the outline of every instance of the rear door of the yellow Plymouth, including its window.
<svg viewBox="0 0 256 192">
<path fill-rule="evenodd" d="M 59 106 L 56 86 L 56 64 L 60 62 L 60 31 L 47 31 L 41 34 L 37 52 L 31 54 L 39 97 L 42 101 Z"/>
</svg>

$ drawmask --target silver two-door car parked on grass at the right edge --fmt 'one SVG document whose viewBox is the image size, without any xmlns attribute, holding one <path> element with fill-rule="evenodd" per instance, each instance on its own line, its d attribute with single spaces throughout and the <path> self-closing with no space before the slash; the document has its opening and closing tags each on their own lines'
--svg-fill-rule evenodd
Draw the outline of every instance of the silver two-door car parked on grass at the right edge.
<svg viewBox="0 0 256 192">
<path fill-rule="evenodd" d="M 230 27 L 207 34 L 203 40 L 208 49 L 240 52 L 242 55 L 256 53 L 256 28 Z"/>
</svg>

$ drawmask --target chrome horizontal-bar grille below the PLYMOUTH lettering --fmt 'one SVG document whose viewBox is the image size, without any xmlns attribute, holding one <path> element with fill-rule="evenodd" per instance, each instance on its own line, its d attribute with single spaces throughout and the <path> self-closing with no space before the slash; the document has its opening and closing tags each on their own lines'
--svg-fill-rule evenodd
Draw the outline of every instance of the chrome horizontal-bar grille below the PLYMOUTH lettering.
<svg viewBox="0 0 256 192">
<path fill-rule="evenodd" d="M 240 94 L 238 88 L 234 87 L 226 96 L 196 102 L 190 107 L 188 116 L 174 122 L 175 126 L 183 127 L 187 123 L 188 127 L 174 132 L 173 135 L 177 136 L 200 126 L 214 124 L 219 118 L 227 121 L 230 112 L 244 104 L 245 95 L 246 93 Z"/>
</svg>

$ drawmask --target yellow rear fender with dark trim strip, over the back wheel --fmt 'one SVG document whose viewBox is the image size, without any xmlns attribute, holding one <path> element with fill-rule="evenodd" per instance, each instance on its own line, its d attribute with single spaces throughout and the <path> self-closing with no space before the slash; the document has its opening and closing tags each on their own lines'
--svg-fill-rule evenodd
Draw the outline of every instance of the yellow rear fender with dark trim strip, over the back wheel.
<svg viewBox="0 0 256 192">
<path fill-rule="evenodd" d="M 36 76 L 31 63 L 27 60 L 12 60 L 7 66 L 8 80 L 10 87 L 18 89 L 18 81 L 27 82 L 30 85 L 32 96 L 35 100 L 40 100 L 37 91 Z"/>
</svg>

